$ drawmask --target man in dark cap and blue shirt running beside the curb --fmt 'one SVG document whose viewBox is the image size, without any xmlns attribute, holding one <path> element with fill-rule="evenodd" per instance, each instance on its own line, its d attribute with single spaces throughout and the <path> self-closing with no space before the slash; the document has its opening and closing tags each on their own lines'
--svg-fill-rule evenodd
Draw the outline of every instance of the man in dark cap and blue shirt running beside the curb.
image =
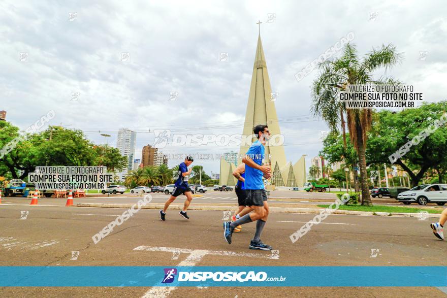
<svg viewBox="0 0 447 298">
<path fill-rule="evenodd" d="M 189 216 L 186 214 L 186 210 L 193 200 L 193 195 L 191 189 L 188 186 L 188 175 L 191 174 L 193 168 L 191 167 L 191 169 L 188 170 L 188 167 L 191 163 L 193 163 L 193 161 L 193 157 L 188 155 L 186 156 L 185 161 L 178 165 L 178 171 L 177 173 L 175 173 L 176 175 L 174 177 L 174 179 L 176 179 L 174 183 L 174 190 L 172 191 L 172 194 L 169 197 L 168 201 L 166 201 L 163 210 L 160 210 L 160 218 L 163 221 L 166 220 L 165 215 L 169 205 L 171 205 L 171 203 L 174 202 L 177 196 L 179 196 L 180 194 L 184 194 L 186 196 L 185 205 L 183 206 L 183 210 L 180 211 L 180 215 L 185 219 L 189 219 Z"/>
</svg>

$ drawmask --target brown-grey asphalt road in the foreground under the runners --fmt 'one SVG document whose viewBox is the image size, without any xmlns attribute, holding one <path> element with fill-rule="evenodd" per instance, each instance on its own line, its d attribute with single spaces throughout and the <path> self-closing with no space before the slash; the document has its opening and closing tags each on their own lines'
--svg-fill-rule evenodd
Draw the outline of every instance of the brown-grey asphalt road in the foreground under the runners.
<svg viewBox="0 0 447 298">
<path fill-rule="evenodd" d="M 46 199 L 45 199 L 46 200 Z M 8 201 L 8 199 L 7 199 Z M 262 239 L 279 250 L 254 251 L 248 244 L 254 224 L 246 224 L 228 245 L 222 237 L 222 212 L 189 211 L 190 220 L 168 211 L 167 221 L 156 210 L 140 210 L 134 217 L 94 244 L 91 237 L 122 214 L 122 209 L 0 205 L 0 263 L 2 266 L 177 266 L 188 257 L 180 253 L 153 251 L 153 247 L 187 250 L 231 251 L 234 255 L 205 255 L 197 266 L 446 266 L 446 243 L 437 240 L 429 220 L 403 217 L 331 215 L 292 244 L 289 236 L 311 214 L 271 213 Z M 28 211 L 20 219 L 21 211 Z M 23 216 L 22 216 L 23 217 Z M 135 250 L 144 247 L 142 250 Z M 371 257 L 371 249 L 380 249 Z M 72 251 L 79 251 L 71 260 Z M 239 254 L 239 255 L 238 255 Z M 67 277 L 71 278 L 71 277 Z M 359 278 L 368 278 L 359 277 Z M 4 287 L 2 297 L 141 297 L 159 293 L 143 287 Z M 177 288 L 170 297 L 444 297 L 433 287 L 294 287 Z"/>
</svg>

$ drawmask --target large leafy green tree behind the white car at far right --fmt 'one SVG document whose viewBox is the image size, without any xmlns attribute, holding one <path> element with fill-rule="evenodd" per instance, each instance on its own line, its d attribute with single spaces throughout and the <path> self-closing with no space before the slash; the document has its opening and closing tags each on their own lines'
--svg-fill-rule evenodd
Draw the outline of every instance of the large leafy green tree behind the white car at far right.
<svg viewBox="0 0 447 298">
<path fill-rule="evenodd" d="M 414 109 L 400 112 L 380 111 L 373 121 L 369 134 L 366 158 L 371 164 L 389 164 L 390 155 L 405 149 L 405 145 L 414 137 L 419 137 L 420 143 L 407 144 L 407 152 L 398 157 L 394 164 L 399 165 L 416 186 L 430 169 L 438 172 L 442 179 L 445 173 L 445 144 L 447 144 L 447 129 L 445 124 L 435 129 L 433 133 L 421 138 L 424 130 L 433 128 L 434 124 L 447 111 L 447 101 L 424 103 Z M 395 155 L 394 158 L 397 156 Z M 392 157 L 393 158 L 393 157 Z M 383 166 L 382 166 L 383 167 Z"/>
</svg>

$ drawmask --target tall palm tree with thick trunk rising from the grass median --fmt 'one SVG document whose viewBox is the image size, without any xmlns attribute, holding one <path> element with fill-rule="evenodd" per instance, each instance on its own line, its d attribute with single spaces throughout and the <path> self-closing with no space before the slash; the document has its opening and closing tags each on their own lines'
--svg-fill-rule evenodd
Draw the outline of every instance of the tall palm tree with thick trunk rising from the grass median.
<svg viewBox="0 0 447 298">
<path fill-rule="evenodd" d="M 313 82 L 312 111 L 322 117 L 332 131 L 338 132 L 341 123 L 343 134 L 344 117 L 346 113 L 349 137 L 359 156 L 360 183 L 362 189 L 362 205 L 372 206 L 368 190 L 366 174 L 365 148 L 367 133 L 371 127 L 371 109 L 345 109 L 338 101 L 341 91 L 347 85 L 355 84 L 389 84 L 400 82 L 393 78 L 379 78 L 374 80 L 372 74 L 379 68 L 390 68 L 400 62 L 401 54 L 396 52 L 392 44 L 382 45 L 380 49 L 373 49 L 362 60 L 357 56 L 355 46 L 347 44 L 343 55 L 337 59 L 328 60 L 320 64 L 321 73 Z"/>
</svg>

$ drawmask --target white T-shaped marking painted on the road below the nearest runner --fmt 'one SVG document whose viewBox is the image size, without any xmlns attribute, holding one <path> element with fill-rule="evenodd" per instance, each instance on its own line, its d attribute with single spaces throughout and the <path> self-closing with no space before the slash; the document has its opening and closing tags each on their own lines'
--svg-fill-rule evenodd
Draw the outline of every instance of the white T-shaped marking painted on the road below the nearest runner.
<svg viewBox="0 0 447 298">
<path fill-rule="evenodd" d="M 279 250 L 271 251 L 271 254 L 261 253 L 249 253 L 249 252 L 235 252 L 235 251 L 220 251 L 220 250 L 203 250 L 203 249 L 186 249 L 186 248 L 173 248 L 173 247 L 158 247 L 158 246 L 138 246 L 134 250 L 145 251 L 165 251 L 171 253 L 188 253 L 186 259 L 181 261 L 177 267 L 180 266 L 196 266 L 204 256 L 211 255 L 225 255 L 225 256 L 242 256 L 242 257 L 257 257 L 268 259 L 279 259 Z M 175 290 L 177 287 L 152 287 L 150 288 L 142 298 L 160 297 L 165 298 Z"/>
</svg>

